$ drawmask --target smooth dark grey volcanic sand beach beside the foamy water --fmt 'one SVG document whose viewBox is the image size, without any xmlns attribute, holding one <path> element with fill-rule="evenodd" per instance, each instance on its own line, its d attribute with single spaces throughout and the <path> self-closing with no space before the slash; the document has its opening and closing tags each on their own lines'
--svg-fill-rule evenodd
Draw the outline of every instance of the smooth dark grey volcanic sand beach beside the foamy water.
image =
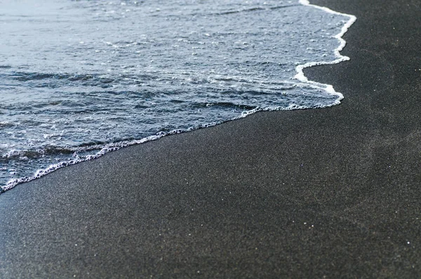
<svg viewBox="0 0 421 279">
<path fill-rule="evenodd" d="M 356 15 L 340 106 L 259 113 L 0 196 L 0 278 L 420 278 L 421 4 Z"/>
</svg>

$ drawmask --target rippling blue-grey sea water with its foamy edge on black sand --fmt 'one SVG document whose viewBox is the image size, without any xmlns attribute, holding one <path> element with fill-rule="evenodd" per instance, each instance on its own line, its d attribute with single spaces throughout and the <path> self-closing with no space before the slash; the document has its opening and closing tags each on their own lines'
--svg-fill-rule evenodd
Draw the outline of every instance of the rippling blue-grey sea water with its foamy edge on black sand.
<svg viewBox="0 0 421 279">
<path fill-rule="evenodd" d="M 307 1 L 0 0 L 0 187 L 256 111 L 339 104 L 304 67 L 355 18 Z"/>
</svg>

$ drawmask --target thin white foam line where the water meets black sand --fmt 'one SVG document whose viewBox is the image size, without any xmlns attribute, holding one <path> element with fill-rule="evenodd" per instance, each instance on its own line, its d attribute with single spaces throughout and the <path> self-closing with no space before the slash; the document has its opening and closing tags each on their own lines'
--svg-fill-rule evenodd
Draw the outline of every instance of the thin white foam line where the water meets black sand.
<svg viewBox="0 0 421 279">
<path fill-rule="evenodd" d="M 347 32 L 349 27 L 351 27 L 351 25 L 356 21 L 356 17 L 354 15 L 348 15 L 348 14 L 345 14 L 345 13 L 338 13 L 338 12 L 332 11 L 329 8 L 326 8 L 326 7 L 316 6 L 316 5 L 310 4 L 308 0 L 299 0 L 299 3 L 304 5 L 304 6 L 312 6 L 314 8 L 319 8 L 323 11 L 326 11 L 327 13 L 332 13 L 332 14 L 336 14 L 336 15 L 344 15 L 344 16 L 349 18 L 347 23 L 345 23 L 345 25 L 342 27 L 341 32 L 334 36 L 335 39 L 338 39 L 338 41 L 340 41 L 340 46 L 334 50 L 335 57 L 337 59 L 335 59 L 333 61 L 330 61 L 330 62 L 307 62 L 305 64 L 300 64 L 297 67 L 295 67 L 295 71 L 297 72 L 297 74 L 295 74 L 295 76 L 294 76 L 295 79 L 298 79 L 299 81 L 302 81 L 302 83 L 311 84 L 312 86 L 316 86 L 318 88 L 321 88 L 322 90 L 325 90 L 330 95 L 335 95 L 335 96 L 338 97 L 337 100 L 333 104 L 330 104 L 330 105 L 325 106 L 325 107 L 331 107 L 331 106 L 340 104 L 340 101 L 344 98 L 341 93 L 336 92 L 332 85 L 318 83 L 316 81 L 309 81 L 307 79 L 307 77 L 305 76 L 305 74 L 303 72 L 303 69 L 308 68 L 308 67 L 313 67 L 313 66 L 316 66 L 316 65 L 338 64 L 342 61 L 349 60 L 349 57 L 340 55 L 340 51 L 346 45 L 346 41 L 344 39 L 342 39 L 342 36 Z M 250 114 L 254 114 L 258 111 L 279 111 L 279 110 L 294 110 L 294 109 L 308 109 L 308 107 L 292 106 L 292 107 L 287 107 L 287 108 L 271 108 L 271 109 L 256 108 L 256 109 L 253 109 L 251 111 L 247 111 L 247 112 L 241 114 L 241 116 L 229 119 L 227 121 L 233 121 L 233 120 L 236 120 L 236 119 L 239 119 L 239 118 L 244 118 L 244 117 L 246 117 Z M 59 168 L 63 168 L 63 167 L 66 167 L 68 165 L 74 165 L 76 163 L 81 163 L 83 161 L 89 161 L 89 160 L 92 160 L 92 159 L 95 159 L 95 158 L 99 158 L 100 156 L 102 156 L 104 154 L 107 154 L 111 151 L 116 151 L 116 150 L 121 149 L 123 147 L 129 147 L 129 146 L 135 145 L 135 144 L 142 144 L 142 143 L 149 142 L 149 141 L 152 141 L 152 140 L 158 140 L 159 138 L 161 138 L 163 136 L 166 136 L 166 135 L 175 135 L 175 134 L 178 134 L 180 132 L 189 132 L 189 131 L 192 131 L 192 130 L 198 130 L 200 128 L 207 128 L 207 127 L 211 127 L 211 126 L 214 126 L 214 125 L 218 125 L 220 123 L 225 123 L 227 121 L 219 121 L 219 122 L 214 122 L 214 123 L 208 123 L 208 124 L 205 124 L 205 125 L 199 125 L 197 127 L 187 128 L 185 130 L 173 130 L 171 132 L 161 132 L 161 133 L 156 134 L 156 135 L 144 137 L 140 140 L 130 140 L 130 141 L 117 142 L 117 143 L 113 143 L 113 144 L 106 144 L 95 155 L 87 156 L 86 158 L 83 158 L 83 159 L 74 159 L 74 160 L 71 160 L 71 161 L 65 161 L 65 162 L 50 165 L 48 168 L 46 168 L 44 170 L 38 170 L 34 174 L 34 176 L 32 176 L 32 177 L 22 177 L 22 178 L 19 178 L 19 179 L 13 179 L 13 180 L 9 181 L 5 186 L 0 186 L 0 194 L 4 193 L 7 190 L 13 189 L 13 187 L 15 187 L 18 184 L 22 184 L 24 182 L 29 182 L 29 181 L 32 181 L 34 179 L 40 178 L 44 175 L 47 175 L 48 173 L 51 173 L 55 170 L 58 170 Z"/>
</svg>

